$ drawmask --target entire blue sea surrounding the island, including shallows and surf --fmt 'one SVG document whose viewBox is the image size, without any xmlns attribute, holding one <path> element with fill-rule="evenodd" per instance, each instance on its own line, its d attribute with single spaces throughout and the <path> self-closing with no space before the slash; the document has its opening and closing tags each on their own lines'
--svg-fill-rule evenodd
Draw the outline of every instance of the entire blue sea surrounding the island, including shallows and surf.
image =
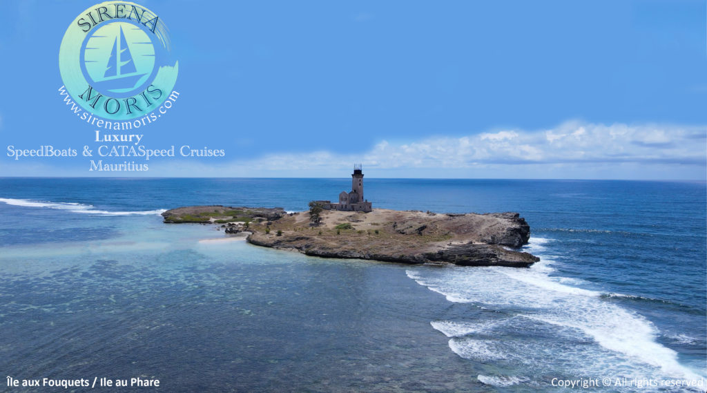
<svg viewBox="0 0 707 393">
<path fill-rule="evenodd" d="M 90 390 L 7 375 L 160 380 L 103 392 L 705 391 L 705 182 L 365 182 L 374 209 L 518 211 L 541 262 L 322 259 L 159 216 L 303 211 L 345 178 L 3 178 L 0 391 Z M 660 386 L 685 381 L 701 385 Z"/>
</svg>

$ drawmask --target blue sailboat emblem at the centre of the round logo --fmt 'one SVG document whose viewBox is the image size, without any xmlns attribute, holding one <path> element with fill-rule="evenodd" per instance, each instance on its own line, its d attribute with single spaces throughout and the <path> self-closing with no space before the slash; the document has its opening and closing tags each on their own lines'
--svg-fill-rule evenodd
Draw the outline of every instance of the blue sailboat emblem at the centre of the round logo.
<svg viewBox="0 0 707 393">
<path fill-rule="evenodd" d="M 137 81 L 146 74 L 137 74 L 130 48 L 125 40 L 123 28 L 120 27 L 120 37 L 115 37 L 113 49 L 108 58 L 103 81 L 95 81 L 95 88 L 118 90 L 134 88 Z"/>
</svg>

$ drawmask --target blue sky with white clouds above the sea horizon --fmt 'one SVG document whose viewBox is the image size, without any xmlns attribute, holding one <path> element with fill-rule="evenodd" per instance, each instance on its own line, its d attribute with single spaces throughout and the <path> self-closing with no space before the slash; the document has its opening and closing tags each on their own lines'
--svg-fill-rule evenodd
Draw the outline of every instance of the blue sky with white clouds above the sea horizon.
<svg viewBox="0 0 707 393">
<path fill-rule="evenodd" d="M 98 145 L 57 93 L 64 31 L 96 2 L 3 2 L 3 151 Z M 180 61 L 144 143 L 226 151 L 140 175 L 706 176 L 705 1 L 137 2 Z M 3 154 L 0 175 L 87 163 Z"/>
</svg>

